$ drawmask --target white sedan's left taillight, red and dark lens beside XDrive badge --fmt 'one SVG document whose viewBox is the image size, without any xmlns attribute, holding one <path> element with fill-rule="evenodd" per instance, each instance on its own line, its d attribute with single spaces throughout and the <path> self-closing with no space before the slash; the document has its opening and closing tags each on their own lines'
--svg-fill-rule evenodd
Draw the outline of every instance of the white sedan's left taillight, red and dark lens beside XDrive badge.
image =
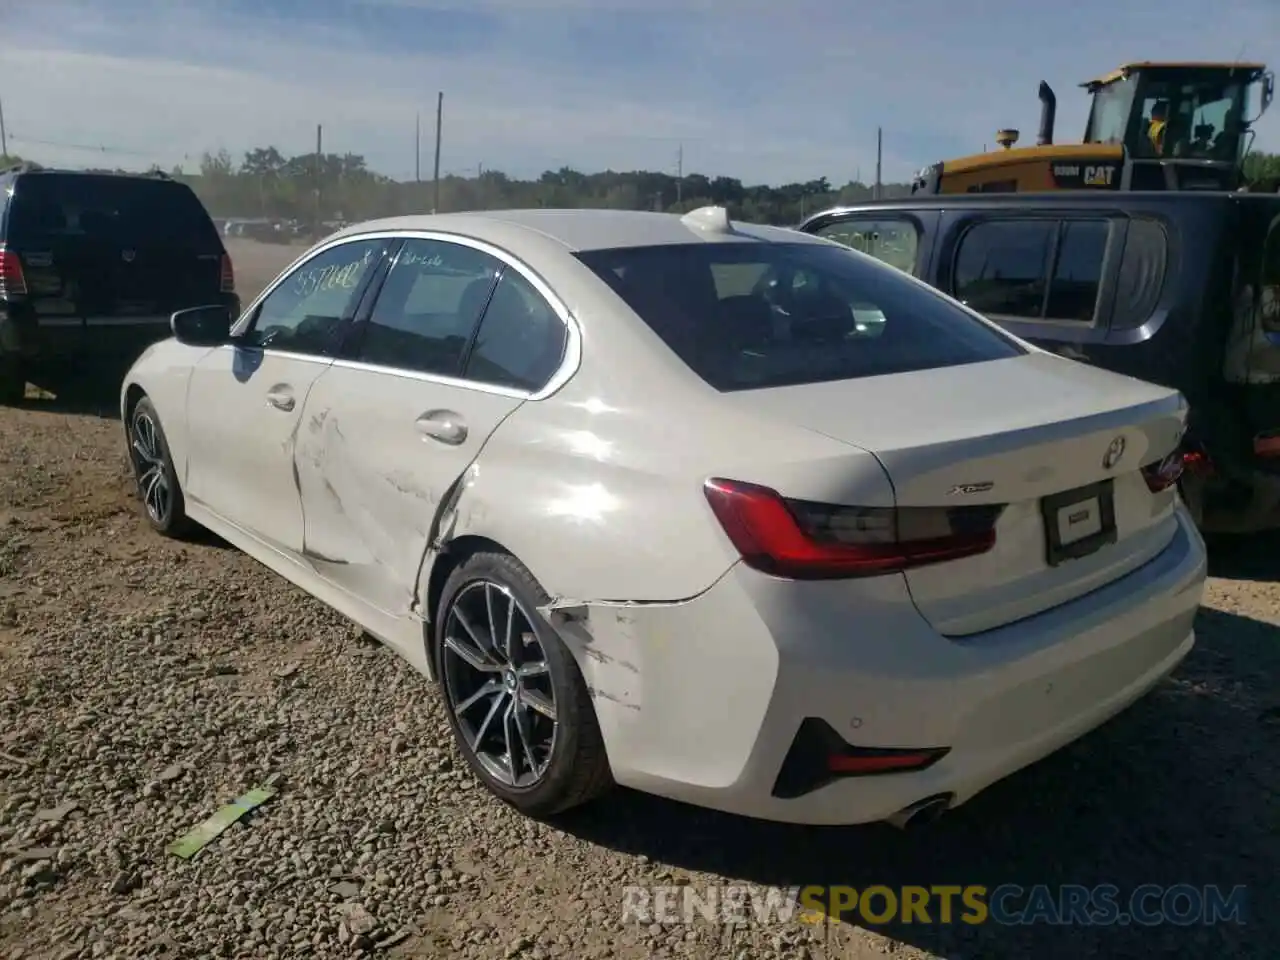
<svg viewBox="0 0 1280 960">
<path fill-rule="evenodd" d="M 718 477 L 704 492 L 742 561 L 792 580 L 878 576 L 986 553 L 996 545 L 1004 511 L 1004 504 L 840 507 Z"/>
</svg>

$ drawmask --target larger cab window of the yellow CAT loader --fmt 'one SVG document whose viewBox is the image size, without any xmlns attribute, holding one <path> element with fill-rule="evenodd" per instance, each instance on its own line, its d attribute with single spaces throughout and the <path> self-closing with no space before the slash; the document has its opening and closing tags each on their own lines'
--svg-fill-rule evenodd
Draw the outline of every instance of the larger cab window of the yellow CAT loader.
<svg viewBox="0 0 1280 960">
<path fill-rule="evenodd" d="M 1134 156 L 1239 163 L 1249 77 L 1162 70 L 1135 79 L 1134 122 L 1125 140 Z"/>
</svg>

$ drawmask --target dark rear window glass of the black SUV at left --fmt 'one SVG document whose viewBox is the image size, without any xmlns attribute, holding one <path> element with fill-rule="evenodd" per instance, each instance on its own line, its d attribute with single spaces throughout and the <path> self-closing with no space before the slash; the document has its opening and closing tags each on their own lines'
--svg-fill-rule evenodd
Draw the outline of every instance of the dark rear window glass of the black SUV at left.
<svg viewBox="0 0 1280 960">
<path fill-rule="evenodd" d="M 18 178 L 9 237 L 29 241 L 97 239 L 147 244 L 221 246 L 204 205 L 186 184 L 141 177 L 33 174 Z"/>
</svg>

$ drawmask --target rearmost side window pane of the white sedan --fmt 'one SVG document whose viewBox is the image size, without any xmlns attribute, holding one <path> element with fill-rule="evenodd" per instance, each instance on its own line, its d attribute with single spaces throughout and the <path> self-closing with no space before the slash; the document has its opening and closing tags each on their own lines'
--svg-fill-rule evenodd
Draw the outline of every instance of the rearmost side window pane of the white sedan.
<svg viewBox="0 0 1280 960">
<path fill-rule="evenodd" d="M 541 389 L 564 357 L 568 330 L 516 270 L 503 271 L 467 360 L 467 379 L 521 390 Z"/>
</svg>

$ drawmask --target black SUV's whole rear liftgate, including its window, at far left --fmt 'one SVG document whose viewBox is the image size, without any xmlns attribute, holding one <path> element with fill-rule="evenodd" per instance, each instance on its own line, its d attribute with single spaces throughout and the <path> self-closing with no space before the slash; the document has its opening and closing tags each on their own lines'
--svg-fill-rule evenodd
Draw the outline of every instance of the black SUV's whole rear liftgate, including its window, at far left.
<svg viewBox="0 0 1280 960">
<path fill-rule="evenodd" d="M 221 241 L 173 180 L 31 174 L 15 187 L 6 233 L 40 319 L 127 323 L 220 297 Z"/>
</svg>

